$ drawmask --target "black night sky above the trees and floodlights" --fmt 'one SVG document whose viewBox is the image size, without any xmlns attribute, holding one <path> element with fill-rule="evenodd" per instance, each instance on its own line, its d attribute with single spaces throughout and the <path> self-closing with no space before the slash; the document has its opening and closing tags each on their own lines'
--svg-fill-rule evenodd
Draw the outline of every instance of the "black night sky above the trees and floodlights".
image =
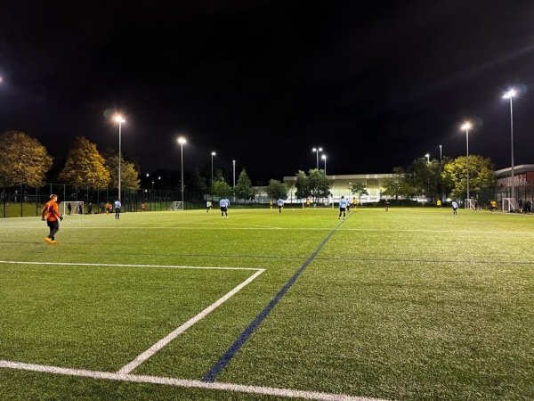
<svg viewBox="0 0 534 401">
<path fill-rule="evenodd" d="M 83 4 L 82 4 L 83 3 Z M 0 129 L 56 159 L 85 135 L 143 172 L 388 173 L 426 152 L 534 163 L 534 2 L 4 1 Z M 320 160 L 320 168 L 324 163 Z"/>
</svg>

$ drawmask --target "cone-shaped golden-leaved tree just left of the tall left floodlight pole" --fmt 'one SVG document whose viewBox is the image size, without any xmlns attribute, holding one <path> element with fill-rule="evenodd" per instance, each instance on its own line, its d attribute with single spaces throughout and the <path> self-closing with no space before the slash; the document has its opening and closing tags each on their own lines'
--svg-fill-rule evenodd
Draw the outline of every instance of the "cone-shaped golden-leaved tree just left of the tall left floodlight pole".
<svg viewBox="0 0 534 401">
<path fill-rule="evenodd" d="M 96 145 L 84 136 L 77 136 L 59 179 L 65 184 L 103 189 L 109 185 L 109 171 Z"/>
</svg>

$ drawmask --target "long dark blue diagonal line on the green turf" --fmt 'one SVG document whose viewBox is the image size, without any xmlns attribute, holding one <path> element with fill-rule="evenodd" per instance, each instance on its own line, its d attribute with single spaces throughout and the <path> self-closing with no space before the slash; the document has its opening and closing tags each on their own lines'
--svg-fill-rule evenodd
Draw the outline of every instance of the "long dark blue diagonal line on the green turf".
<svg viewBox="0 0 534 401">
<path fill-rule="evenodd" d="M 238 337 L 238 340 L 235 340 L 234 343 L 231 345 L 230 348 L 224 353 L 223 356 L 219 358 L 219 360 L 210 368 L 210 370 L 206 373 L 206 375 L 202 378 L 202 381 L 215 381 L 219 373 L 223 371 L 223 369 L 226 367 L 226 365 L 231 361 L 231 358 L 236 355 L 236 353 L 239 351 L 241 347 L 245 345 L 248 338 L 252 335 L 252 333 L 255 332 L 255 330 L 258 328 L 258 326 L 263 323 L 263 320 L 269 315 L 272 308 L 276 306 L 276 304 L 279 303 L 279 300 L 282 299 L 284 295 L 286 295 L 287 291 L 291 286 L 296 282 L 296 279 L 303 274 L 303 271 L 312 263 L 312 260 L 319 254 L 320 250 L 325 246 L 325 244 L 328 242 L 330 237 L 336 233 L 337 228 L 339 228 L 340 225 L 342 225 L 344 221 L 342 221 L 340 224 L 336 225 L 336 228 L 328 234 L 328 236 L 320 243 L 317 250 L 314 250 L 312 253 L 312 256 L 308 258 L 304 263 L 303 266 L 300 266 L 300 268 L 296 271 L 295 274 L 284 284 L 284 286 L 280 289 L 278 294 L 275 295 L 273 299 L 271 299 L 271 302 L 267 305 L 267 307 L 263 308 L 263 311 L 260 312 L 259 315 L 257 315 L 252 323 L 250 323 Z"/>
</svg>

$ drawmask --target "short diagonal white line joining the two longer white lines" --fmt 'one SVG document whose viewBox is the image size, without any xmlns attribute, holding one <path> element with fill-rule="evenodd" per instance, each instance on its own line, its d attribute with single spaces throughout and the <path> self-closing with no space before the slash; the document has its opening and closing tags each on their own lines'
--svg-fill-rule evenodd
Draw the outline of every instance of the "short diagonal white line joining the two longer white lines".
<svg viewBox="0 0 534 401">
<path fill-rule="evenodd" d="M 198 315 L 192 317 L 186 323 L 183 323 L 180 327 L 169 333 L 165 338 L 159 340 L 156 344 L 144 351 L 141 355 L 136 356 L 132 362 L 130 362 L 129 364 L 125 364 L 122 368 L 119 369 L 117 373 L 126 374 L 132 372 L 137 366 L 149 359 L 150 356 L 156 354 L 161 348 L 164 348 L 169 342 L 171 342 L 180 334 L 182 334 L 183 331 L 186 331 L 190 328 L 190 326 L 206 317 L 206 315 L 210 314 L 216 307 L 221 306 L 223 302 L 228 299 L 231 299 L 232 296 L 234 296 L 238 291 L 243 289 L 248 283 L 252 282 L 258 275 L 262 274 L 264 271 L 265 269 L 257 269 L 255 274 L 248 277 L 247 280 L 245 280 L 244 282 L 241 282 L 237 287 L 235 287 L 233 290 L 224 295 L 223 298 L 217 299 L 212 305 L 206 307 L 206 309 L 204 309 Z"/>
</svg>

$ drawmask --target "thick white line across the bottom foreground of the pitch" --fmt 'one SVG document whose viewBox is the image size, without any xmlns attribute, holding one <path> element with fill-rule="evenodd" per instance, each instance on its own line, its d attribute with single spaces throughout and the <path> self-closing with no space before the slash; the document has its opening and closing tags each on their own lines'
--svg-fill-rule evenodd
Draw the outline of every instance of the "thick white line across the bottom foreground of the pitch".
<svg viewBox="0 0 534 401">
<path fill-rule="evenodd" d="M 129 381 L 134 383 L 163 384 L 194 389 L 217 389 L 224 391 L 235 391 L 240 393 L 258 394 L 264 396 L 277 396 L 288 398 L 303 398 L 319 401 L 387 401 L 382 398 L 356 397 L 344 394 L 330 394 L 316 391 L 304 391 L 297 389 L 279 389 L 274 387 L 246 386 L 243 384 L 193 381 L 185 379 L 174 379 L 158 376 L 141 376 L 134 374 L 120 374 L 113 372 L 96 372 L 82 369 L 69 369 L 60 366 L 49 366 L 44 364 L 24 364 L 20 362 L 0 361 L 0 368 L 18 369 L 30 372 L 44 372 L 62 374 L 66 376 L 85 377 L 90 379 L 104 379 L 109 381 Z"/>
</svg>

